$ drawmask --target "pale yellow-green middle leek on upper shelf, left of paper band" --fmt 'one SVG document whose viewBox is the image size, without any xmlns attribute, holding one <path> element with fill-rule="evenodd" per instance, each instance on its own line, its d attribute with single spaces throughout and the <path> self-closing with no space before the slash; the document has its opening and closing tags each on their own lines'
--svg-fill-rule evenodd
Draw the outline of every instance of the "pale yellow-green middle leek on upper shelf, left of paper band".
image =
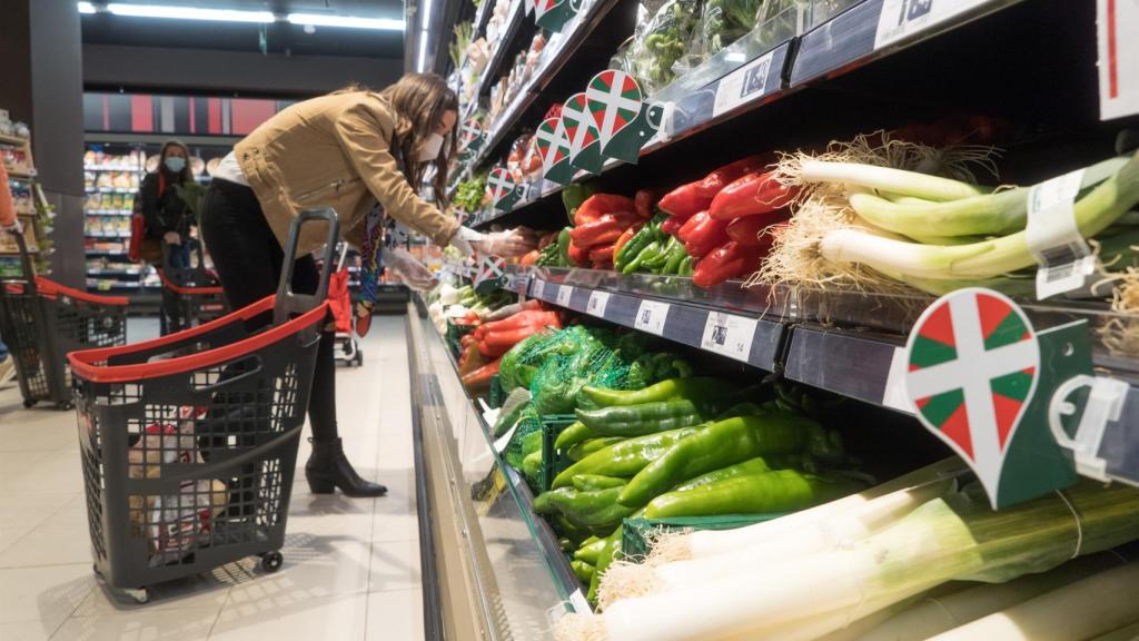
<svg viewBox="0 0 1139 641">
<path fill-rule="evenodd" d="M 1029 189 L 1017 188 L 943 203 L 892 203 L 874 194 L 852 194 L 851 209 L 874 225 L 917 238 L 1003 235 L 1024 228 Z"/>
</svg>

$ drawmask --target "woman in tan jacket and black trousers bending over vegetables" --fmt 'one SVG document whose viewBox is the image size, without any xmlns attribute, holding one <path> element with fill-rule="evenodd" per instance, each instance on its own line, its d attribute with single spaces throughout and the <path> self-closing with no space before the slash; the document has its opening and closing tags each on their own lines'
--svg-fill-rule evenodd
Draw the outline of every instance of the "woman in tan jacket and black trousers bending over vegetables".
<svg viewBox="0 0 1139 641">
<path fill-rule="evenodd" d="M 350 88 L 293 105 L 238 143 L 214 172 L 202 216 L 203 240 L 231 308 L 276 292 L 289 225 L 306 209 L 336 211 L 344 240 L 374 266 L 364 278 L 375 278 L 383 261 L 409 285 L 431 284 L 431 273 L 407 252 L 380 251 L 387 217 L 467 253 L 518 255 L 533 249 L 532 232 L 485 235 L 460 228 L 416 194 L 434 164 L 434 193 L 444 198 L 458 107 L 442 78 L 408 74 L 383 91 Z M 317 227 L 301 233 L 296 292 L 317 289 L 310 253 L 325 242 L 325 230 Z M 366 307 L 358 309 L 366 313 Z M 313 447 L 305 476 L 313 493 L 339 487 L 349 496 L 379 496 L 386 488 L 357 474 L 338 437 L 334 346 L 329 328 L 317 354 L 309 404 Z"/>
</svg>

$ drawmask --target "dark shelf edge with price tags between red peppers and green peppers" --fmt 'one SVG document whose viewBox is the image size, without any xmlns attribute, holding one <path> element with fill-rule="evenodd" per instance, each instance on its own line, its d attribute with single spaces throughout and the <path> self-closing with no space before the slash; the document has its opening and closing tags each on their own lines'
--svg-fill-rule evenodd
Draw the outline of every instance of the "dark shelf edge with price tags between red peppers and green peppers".
<svg viewBox="0 0 1139 641">
<path fill-rule="evenodd" d="M 702 290 L 679 276 L 558 268 L 508 268 L 501 286 L 616 325 L 732 358 L 863 403 L 911 414 L 901 384 L 906 335 L 932 299 L 861 293 Z M 1036 331 L 1088 320 L 1095 331 L 1116 315 L 1103 305 L 1022 303 Z M 648 317 L 645 316 L 646 310 Z M 1132 319 L 1133 320 L 1133 319 Z M 1109 478 L 1139 485 L 1139 371 L 1133 359 L 1092 346 L 1097 373 L 1128 383 L 1099 457 Z"/>
</svg>

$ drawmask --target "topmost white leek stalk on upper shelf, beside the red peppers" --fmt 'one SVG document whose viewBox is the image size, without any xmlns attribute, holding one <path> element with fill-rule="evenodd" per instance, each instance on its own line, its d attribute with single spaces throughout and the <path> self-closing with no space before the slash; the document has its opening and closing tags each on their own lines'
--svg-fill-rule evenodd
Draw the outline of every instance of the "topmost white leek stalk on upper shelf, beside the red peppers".
<svg viewBox="0 0 1139 641">
<path fill-rule="evenodd" d="M 931 201 L 956 201 L 985 193 L 982 187 L 960 180 L 852 162 L 803 160 L 798 179 L 802 182 L 831 182 L 869 187 L 901 196 L 916 196 Z"/>
</svg>

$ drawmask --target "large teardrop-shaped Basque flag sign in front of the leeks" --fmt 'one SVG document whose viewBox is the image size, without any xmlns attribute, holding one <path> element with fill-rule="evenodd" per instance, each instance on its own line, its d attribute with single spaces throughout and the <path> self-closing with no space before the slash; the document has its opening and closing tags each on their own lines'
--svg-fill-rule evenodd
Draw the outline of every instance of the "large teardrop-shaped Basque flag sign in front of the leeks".
<svg viewBox="0 0 1139 641">
<path fill-rule="evenodd" d="M 995 505 L 1009 444 L 1036 389 L 1040 343 L 1003 294 L 980 287 L 925 310 L 907 343 L 918 420 L 973 468 Z"/>
</svg>

